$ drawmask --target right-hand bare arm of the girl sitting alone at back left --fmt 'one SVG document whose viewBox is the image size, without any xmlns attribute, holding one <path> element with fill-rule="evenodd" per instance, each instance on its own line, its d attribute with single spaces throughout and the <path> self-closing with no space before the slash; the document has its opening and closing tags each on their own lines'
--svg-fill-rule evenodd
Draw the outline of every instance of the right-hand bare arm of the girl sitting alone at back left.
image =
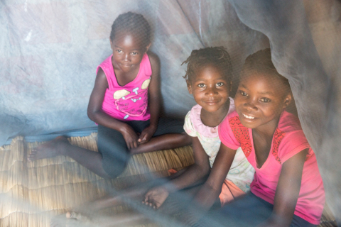
<svg viewBox="0 0 341 227">
<path fill-rule="evenodd" d="M 148 87 L 148 107 L 151 113 L 150 125 L 141 132 L 139 143 L 148 142 L 158 128 L 158 117 L 160 114 L 161 90 L 160 90 L 160 60 L 153 52 L 148 52 L 151 62 L 151 83 Z"/>
</svg>

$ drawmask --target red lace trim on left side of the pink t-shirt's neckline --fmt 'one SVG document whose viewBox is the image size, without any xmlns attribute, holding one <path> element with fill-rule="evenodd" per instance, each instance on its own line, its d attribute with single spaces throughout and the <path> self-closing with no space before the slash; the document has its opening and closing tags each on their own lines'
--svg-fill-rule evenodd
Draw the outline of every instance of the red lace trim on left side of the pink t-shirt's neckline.
<svg viewBox="0 0 341 227">
<path fill-rule="evenodd" d="M 229 126 L 231 126 L 234 137 L 240 143 L 245 157 L 248 157 L 252 150 L 249 129 L 242 125 L 239 116 L 229 118 Z"/>
</svg>

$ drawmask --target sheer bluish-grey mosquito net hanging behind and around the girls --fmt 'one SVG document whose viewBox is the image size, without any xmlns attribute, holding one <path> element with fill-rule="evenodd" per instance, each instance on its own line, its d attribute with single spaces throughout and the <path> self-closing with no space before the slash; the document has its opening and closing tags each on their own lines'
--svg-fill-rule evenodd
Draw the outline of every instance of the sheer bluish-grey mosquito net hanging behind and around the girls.
<svg viewBox="0 0 341 227">
<path fill-rule="evenodd" d="M 126 11 L 151 25 L 166 116 L 183 118 L 195 105 L 181 66 L 191 50 L 227 48 L 235 92 L 245 58 L 271 48 L 317 156 L 326 201 L 340 218 L 340 1 L 0 1 L 0 145 L 16 135 L 39 140 L 96 127 L 87 117 L 96 68 L 112 53 L 111 25 Z"/>
</svg>

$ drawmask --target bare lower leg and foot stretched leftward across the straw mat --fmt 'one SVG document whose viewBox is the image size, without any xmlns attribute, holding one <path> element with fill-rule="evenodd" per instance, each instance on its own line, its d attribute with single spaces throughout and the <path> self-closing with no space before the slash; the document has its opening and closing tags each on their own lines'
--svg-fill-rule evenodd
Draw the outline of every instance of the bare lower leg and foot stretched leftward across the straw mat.
<svg viewBox="0 0 341 227">
<path fill-rule="evenodd" d="M 76 162 L 80 163 L 80 165 L 86 167 L 100 177 L 111 178 L 102 167 L 101 153 L 71 145 L 64 136 L 58 136 L 54 140 L 38 146 L 36 149 L 32 150 L 32 153 L 28 155 L 27 158 L 28 161 L 33 161 L 58 155 L 71 157 Z"/>
</svg>

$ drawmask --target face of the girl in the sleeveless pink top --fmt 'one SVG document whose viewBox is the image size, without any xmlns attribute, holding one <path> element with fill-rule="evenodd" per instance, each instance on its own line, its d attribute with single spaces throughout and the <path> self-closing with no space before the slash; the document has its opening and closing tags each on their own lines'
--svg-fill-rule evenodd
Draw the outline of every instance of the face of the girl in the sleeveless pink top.
<svg viewBox="0 0 341 227">
<path fill-rule="evenodd" d="M 115 70 L 131 72 L 139 67 L 144 53 L 150 46 L 144 45 L 144 40 L 138 35 L 121 31 L 110 40 L 112 46 L 112 65 Z"/>
</svg>

